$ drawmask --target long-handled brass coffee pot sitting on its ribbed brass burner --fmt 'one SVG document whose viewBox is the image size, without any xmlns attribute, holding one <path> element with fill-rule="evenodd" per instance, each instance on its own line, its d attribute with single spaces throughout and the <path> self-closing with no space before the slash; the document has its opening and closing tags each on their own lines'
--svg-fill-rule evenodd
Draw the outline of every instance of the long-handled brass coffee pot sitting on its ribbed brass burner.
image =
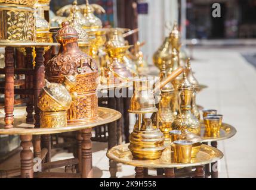
<svg viewBox="0 0 256 190">
<path fill-rule="evenodd" d="M 155 92 L 162 89 L 166 84 L 183 72 L 184 68 L 178 68 L 164 81 L 155 86 L 150 84 L 149 78 L 134 80 L 134 94 L 128 112 L 138 114 L 134 130 L 129 136 L 129 150 L 135 159 L 154 160 L 159 159 L 165 150 L 164 134 L 159 129 L 159 115 L 156 108 Z M 154 113 L 156 126 L 152 119 L 146 118 L 146 113 Z"/>
</svg>

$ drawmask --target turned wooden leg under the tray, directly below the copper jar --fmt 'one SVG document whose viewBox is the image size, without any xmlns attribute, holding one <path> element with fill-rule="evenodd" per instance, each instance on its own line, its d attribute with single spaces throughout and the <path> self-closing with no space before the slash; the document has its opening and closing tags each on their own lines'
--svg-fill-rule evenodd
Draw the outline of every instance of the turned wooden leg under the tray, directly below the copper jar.
<svg viewBox="0 0 256 190">
<path fill-rule="evenodd" d="M 83 129 L 82 135 L 82 178 L 92 178 L 92 142 L 91 142 L 92 128 Z"/>
</svg>

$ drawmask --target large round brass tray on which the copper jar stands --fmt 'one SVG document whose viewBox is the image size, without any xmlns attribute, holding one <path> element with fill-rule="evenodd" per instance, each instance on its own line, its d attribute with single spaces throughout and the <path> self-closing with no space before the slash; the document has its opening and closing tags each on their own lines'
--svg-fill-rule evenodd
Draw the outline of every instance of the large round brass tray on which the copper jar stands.
<svg viewBox="0 0 256 190">
<path fill-rule="evenodd" d="M 18 109 L 18 110 L 16 110 Z M 26 112 L 25 107 L 16 107 L 14 112 L 18 112 L 17 115 L 14 113 L 14 127 L 10 129 L 4 128 L 4 118 L 0 118 L 0 134 L 5 135 L 44 135 L 44 134 L 56 134 L 61 132 L 78 131 L 85 128 L 92 128 L 98 125 L 109 124 L 113 121 L 121 118 L 121 113 L 109 109 L 106 107 L 98 107 L 99 119 L 96 122 L 88 122 L 84 124 L 68 124 L 63 128 L 34 128 L 33 124 L 26 124 Z M 1 112 L 1 110 L 0 110 Z M 23 113 L 21 115 L 20 113 Z"/>
</svg>

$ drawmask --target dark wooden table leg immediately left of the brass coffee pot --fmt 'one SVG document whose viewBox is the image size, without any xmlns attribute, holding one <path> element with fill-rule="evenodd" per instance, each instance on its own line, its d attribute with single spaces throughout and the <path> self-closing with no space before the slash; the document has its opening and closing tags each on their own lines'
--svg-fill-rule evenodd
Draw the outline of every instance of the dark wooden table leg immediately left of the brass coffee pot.
<svg viewBox="0 0 256 190">
<path fill-rule="evenodd" d="M 127 88 L 128 91 L 128 88 Z M 128 92 L 127 92 L 128 94 Z M 129 143 L 129 104 L 131 98 L 124 97 L 124 134 L 125 134 L 125 143 Z"/>
</svg>

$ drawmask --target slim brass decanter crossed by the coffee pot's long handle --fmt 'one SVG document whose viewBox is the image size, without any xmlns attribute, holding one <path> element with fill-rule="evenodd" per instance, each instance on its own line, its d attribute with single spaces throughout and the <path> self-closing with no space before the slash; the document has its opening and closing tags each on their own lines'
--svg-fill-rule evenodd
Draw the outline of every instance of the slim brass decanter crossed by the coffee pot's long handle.
<svg viewBox="0 0 256 190">
<path fill-rule="evenodd" d="M 160 80 L 164 81 L 167 78 L 165 64 L 162 66 L 160 73 Z M 169 138 L 169 131 L 174 121 L 174 113 L 172 112 L 171 102 L 174 99 L 174 87 L 171 82 L 166 84 L 161 90 L 161 99 L 159 102 L 159 128 L 167 140 Z"/>
</svg>

